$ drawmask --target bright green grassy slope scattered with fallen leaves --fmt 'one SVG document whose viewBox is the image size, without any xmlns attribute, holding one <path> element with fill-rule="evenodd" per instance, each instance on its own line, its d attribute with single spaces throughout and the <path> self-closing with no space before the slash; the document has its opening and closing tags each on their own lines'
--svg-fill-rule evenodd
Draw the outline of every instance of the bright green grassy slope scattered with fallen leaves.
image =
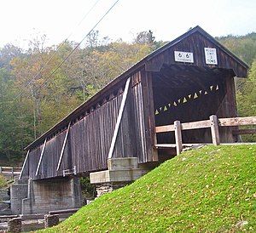
<svg viewBox="0 0 256 233">
<path fill-rule="evenodd" d="M 243 230 L 256 232 L 256 145 L 184 152 L 44 232 Z"/>
</svg>

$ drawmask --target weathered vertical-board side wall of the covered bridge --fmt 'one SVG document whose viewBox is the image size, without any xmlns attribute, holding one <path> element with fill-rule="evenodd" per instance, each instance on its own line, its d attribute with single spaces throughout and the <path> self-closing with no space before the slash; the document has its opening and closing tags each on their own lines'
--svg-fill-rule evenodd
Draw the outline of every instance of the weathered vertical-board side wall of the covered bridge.
<svg viewBox="0 0 256 233">
<path fill-rule="evenodd" d="M 114 146 L 113 157 L 137 156 L 139 162 L 151 162 L 152 157 L 147 154 L 141 80 L 140 71 L 131 76 L 131 85 Z M 32 179 L 47 179 L 61 176 L 63 170 L 74 167 L 76 167 L 77 173 L 90 173 L 107 169 L 108 151 L 123 94 L 124 87 L 122 86 L 110 94 L 108 99 L 102 99 L 101 104 L 96 105 L 95 108 L 84 109 L 84 117 L 73 122 L 69 129 L 61 168 L 58 172 L 56 168 L 67 128 L 47 140 L 38 176 L 36 176 L 36 169 L 44 145 L 32 150 L 29 154 L 29 162 L 27 162 L 27 165 L 29 164 L 29 176 Z"/>
</svg>

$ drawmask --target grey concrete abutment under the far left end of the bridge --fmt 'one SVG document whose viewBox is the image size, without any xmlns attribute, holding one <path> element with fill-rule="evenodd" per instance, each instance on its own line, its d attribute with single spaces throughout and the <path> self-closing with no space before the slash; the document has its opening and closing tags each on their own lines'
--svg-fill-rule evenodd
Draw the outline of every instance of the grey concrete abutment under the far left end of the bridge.
<svg viewBox="0 0 256 233">
<path fill-rule="evenodd" d="M 15 214 L 49 213 L 79 208 L 82 195 L 79 178 L 21 180 L 11 187 L 11 209 Z"/>
</svg>

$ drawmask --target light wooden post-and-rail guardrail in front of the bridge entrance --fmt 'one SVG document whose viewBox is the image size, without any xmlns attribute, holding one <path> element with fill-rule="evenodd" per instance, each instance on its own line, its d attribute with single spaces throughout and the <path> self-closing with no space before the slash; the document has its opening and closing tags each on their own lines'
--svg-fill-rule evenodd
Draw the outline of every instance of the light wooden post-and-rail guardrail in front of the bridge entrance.
<svg viewBox="0 0 256 233">
<path fill-rule="evenodd" d="M 212 144 L 219 145 L 219 127 L 232 127 L 232 126 L 244 126 L 244 125 L 256 125 L 256 117 L 231 117 L 231 118 L 219 118 L 212 115 L 209 120 L 198 121 L 198 122 L 185 122 L 181 123 L 175 121 L 172 125 L 158 126 L 155 128 L 155 133 L 166 133 L 174 132 L 176 141 L 177 155 L 183 149 L 182 141 L 182 130 L 197 129 L 197 128 L 211 128 L 212 133 Z M 233 132 L 234 135 L 237 134 L 256 134 L 256 129 L 239 129 Z"/>
</svg>

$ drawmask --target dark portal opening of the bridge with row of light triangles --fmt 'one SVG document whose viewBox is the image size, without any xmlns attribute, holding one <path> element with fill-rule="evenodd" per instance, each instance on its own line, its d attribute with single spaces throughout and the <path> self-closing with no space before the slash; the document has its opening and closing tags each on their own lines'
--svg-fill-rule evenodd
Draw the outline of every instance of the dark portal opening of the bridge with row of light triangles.
<svg viewBox="0 0 256 233">
<path fill-rule="evenodd" d="M 234 72 L 195 65 L 163 65 L 152 75 L 155 126 L 236 116 Z M 222 142 L 233 140 L 221 129 Z M 232 138 L 232 139 L 231 139 Z M 211 143 L 210 128 L 183 131 L 183 143 Z M 175 144 L 173 133 L 157 134 L 158 144 Z"/>
</svg>

